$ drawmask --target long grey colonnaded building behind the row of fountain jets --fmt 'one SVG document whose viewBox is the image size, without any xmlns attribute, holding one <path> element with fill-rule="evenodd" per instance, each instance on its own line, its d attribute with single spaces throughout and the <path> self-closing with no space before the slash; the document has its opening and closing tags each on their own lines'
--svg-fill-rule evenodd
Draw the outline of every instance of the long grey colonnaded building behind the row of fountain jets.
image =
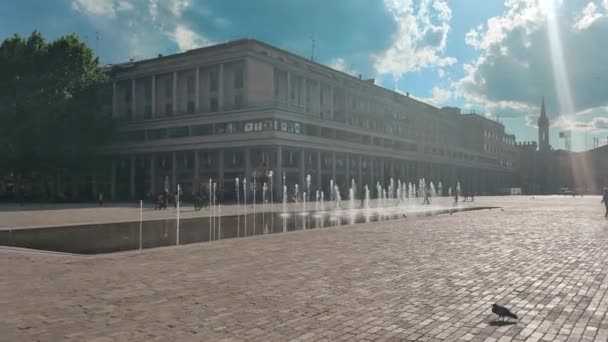
<svg viewBox="0 0 608 342">
<path fill-rule="evenodd" d="M 108 67 L 119 134 L 93 192 L 140 199 L 208 180 L 273 171 L 291 189 L 328 191 L 424 177 L 492 194 L 516 181 L 515 137 L 458 108 L 437 108 L 257 40 Z M 290 190 L 291 191 L 291 190 Z M 375 196 L 375 194 L 373 194 Z"/>
</svg>

